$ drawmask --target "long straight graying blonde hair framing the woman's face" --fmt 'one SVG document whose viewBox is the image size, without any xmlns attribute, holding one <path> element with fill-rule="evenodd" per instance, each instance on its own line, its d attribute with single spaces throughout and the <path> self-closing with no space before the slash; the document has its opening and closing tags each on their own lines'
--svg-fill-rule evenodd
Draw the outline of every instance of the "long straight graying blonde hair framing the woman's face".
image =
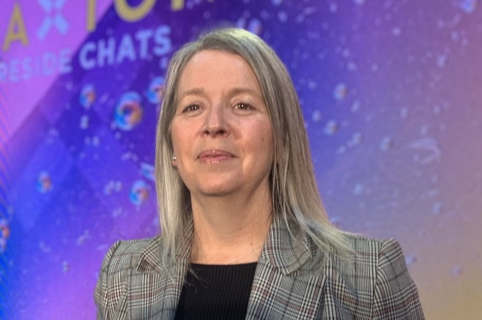
<svg viewBox="0 0 482 320">
<path fill-rule="evenodd" d="M 191 57 L 201 50 L 240 55 L 258 79 L 273 130 L 274 160 L 269 181 L 273 214 L 281 214 L 287 224 L 295 223 L 307 232 L 322 252 L 343 255 L 347 250 L 343 232 L 331 225 L 322 206 L 300 103 L 287 69 L 267 43 L 255 34 L 225 28 L 186 43 L 174 54 L 168 66 L 155 155 L 164 243 L 162 268 L 169 271 L 178 257 L 187 258 L 191 246 L 191 197 L 172 166 L 171 122 L 177 106 L 180 75 Z"/>
</svg>

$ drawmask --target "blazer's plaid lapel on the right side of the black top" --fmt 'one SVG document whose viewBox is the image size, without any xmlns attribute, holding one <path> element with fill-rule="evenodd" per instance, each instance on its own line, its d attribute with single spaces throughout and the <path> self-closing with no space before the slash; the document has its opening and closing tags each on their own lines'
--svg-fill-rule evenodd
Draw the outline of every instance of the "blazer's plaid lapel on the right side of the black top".
<svg viewBox="0 0 482 320">
<path fill-rule="evenodd" d="M 291 231 L 291 232 L 290 232 Z M 291 237 L 293 234 L 293 237 Z M 247 319 L 314 319 L 326 275 L 311 257 L 314 243 L 280 217 L 273 223 L 249 297 Z"/>
</svg>

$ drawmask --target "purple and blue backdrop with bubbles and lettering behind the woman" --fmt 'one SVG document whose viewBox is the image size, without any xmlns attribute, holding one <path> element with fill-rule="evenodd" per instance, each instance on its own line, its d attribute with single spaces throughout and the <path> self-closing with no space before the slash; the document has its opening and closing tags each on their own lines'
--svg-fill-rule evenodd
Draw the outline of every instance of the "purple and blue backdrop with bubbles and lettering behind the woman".
<svg viewBox="0 0 482 320">
<path fill-rule="evenodd" d="M 217 26 L 298 91 L 331 221 L 401 242 L 427 319 L 482 313 L 476 0 L 38 0 L 0 8 L 0 317 L 93 319 L 118 239 L 159 232 L 158 90 Z"/>
</svg>

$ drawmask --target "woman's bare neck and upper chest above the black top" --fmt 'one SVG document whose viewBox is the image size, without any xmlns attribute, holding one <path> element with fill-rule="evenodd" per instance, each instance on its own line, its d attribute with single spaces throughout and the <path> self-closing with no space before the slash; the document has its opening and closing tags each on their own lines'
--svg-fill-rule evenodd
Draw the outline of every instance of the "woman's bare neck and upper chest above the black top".
<svg viewBox="0 0 482 320">
<path fill-rule="evenodd" d="M 271 194 L 192 197 L 191 262 L 235 264 L 258 261 L 271 226 Z"/>
</svg>

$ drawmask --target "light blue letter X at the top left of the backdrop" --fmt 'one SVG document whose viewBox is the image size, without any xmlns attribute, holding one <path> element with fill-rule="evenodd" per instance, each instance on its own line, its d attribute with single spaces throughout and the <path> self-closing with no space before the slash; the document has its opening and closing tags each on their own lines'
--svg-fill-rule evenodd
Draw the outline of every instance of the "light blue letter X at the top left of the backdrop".
<svg viewBox="0 0 482 320">
<path fill-rule="evenodd" d="M 38 0 L 39 5 L 44 9 L 46 17 L 37 30 L 37 38 L 44 40 L 48 32 L 54 26 L 61 34 L 66 34 L 68 30 L 68 22 L 62 16 L 60 9 L 67 0 Z M 55 10 L 55 12 L 54 12 Z"/>
</svg>

